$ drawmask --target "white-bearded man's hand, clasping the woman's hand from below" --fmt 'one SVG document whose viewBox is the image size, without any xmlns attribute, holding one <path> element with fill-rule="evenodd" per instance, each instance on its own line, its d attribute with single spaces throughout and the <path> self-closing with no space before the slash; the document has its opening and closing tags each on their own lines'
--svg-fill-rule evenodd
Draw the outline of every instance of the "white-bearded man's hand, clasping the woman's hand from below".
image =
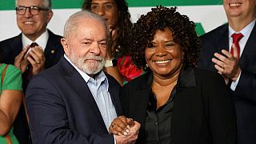
<svg viewBox="0 0 256 144">
<path fill-rule="evenodd" d="M 134 144 L 138 138 L 138 130 L 141 124 L 134 121 L 134 126 L 129 127 L 130 133 L 126 136 L 124 135 L 114 135 L 117 144 Z"/>
</svg>

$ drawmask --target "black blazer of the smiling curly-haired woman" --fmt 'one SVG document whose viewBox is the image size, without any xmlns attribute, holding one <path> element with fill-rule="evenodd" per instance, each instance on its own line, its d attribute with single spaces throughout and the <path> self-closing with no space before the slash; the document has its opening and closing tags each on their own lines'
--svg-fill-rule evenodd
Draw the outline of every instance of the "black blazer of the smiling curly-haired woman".
<svg viewBox="0 0 256 144">
<path fill-rule="evenodd" d="M 145 142 L 146 108 L 153 74 L 128 82 L 121 92 L 124 115 L 141 123 L 138 144 Z M 185 70 L 178 78 L 171 115 L 171 144 L 234 144 L 234 104 L 222 76 L 206 70 Z"/>
</svg>

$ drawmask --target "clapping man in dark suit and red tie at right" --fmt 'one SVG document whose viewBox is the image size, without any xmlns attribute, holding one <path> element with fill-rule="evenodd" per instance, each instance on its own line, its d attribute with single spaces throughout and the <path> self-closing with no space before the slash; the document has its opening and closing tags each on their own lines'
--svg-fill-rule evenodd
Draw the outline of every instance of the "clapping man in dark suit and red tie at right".
<svg viewBox="0 0 256 144">
<path fill-rule="evenodd" d="M 237 114 L 238 144 L 256 142 L 256 1 L 223 0 L 228 23 L 202 35 L 198 67 L 222 74 Z"/>
</svg>

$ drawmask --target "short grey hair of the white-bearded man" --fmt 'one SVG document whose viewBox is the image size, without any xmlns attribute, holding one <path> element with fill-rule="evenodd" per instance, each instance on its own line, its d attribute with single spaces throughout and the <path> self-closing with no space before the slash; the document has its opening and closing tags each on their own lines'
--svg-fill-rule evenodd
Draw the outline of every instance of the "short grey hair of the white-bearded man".
<svg viewBox="0 0 256 144">
<path fill-rule="evenodd" d="M 94 19 L 100 22 L 102 26 L 106 28 L 105 30 L 106 30 L 107 44 L 108 46 L 110 46 L 110 30 L 109 30 L 109 26 L 106 24 L 106 21 L 102 18 L 102 16 L 91 13 L 90 11 L 87 11 L 87 10 L 78 11 L 77 13 L 72 14 L 70 18 L 66 20 L 64 31 L 63 31 L 63 37 L 69 38 L 69 35 L 77 30 L 78 23 L 82 18 Z"/>
</svg>

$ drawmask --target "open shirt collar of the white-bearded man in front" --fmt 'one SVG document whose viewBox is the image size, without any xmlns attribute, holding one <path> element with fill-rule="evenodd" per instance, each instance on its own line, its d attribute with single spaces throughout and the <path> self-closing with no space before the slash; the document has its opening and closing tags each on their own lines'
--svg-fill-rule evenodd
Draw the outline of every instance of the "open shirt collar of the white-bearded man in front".
<svg viewBox="0 0 256 144">
<path fill-rule="evenodd" d="M 72 62 L 70 61 L 70 58 L 68 58 L 68 57 L 66 56 L 66 54 L 64 54 L 64 58 L 66 58 L 66 60 L 67 60 L 68 62 L 70 62 L 70 64 L 71 64 L 72 66 L 74 66 L 74 69 L 75 69 L 75 70 L 78 70 L 78 73 L 82 76 L 82 78 L 86 81 L 86 83 L 88 83 L 89 80 L 90 80 L 91 82 L 99 82 L 99 83 L 107 82 L 107 83 L 108 83 L 108 80 L 107 80 L 107 78 L 106 78 L 106 74 L 105 74 L 102 70 L 95 76 L 95 78 L 91 78 L 88 74 L 86 74 L 86 73 L 83 72 L 82 70 L 78 69 L 78 67 L 75 66 L 74 63 L 72 63 Z M 107 90 L 108 90 L 108 85 L 106 85 L 106 86 L 107 86 Z"/>
</svg>

